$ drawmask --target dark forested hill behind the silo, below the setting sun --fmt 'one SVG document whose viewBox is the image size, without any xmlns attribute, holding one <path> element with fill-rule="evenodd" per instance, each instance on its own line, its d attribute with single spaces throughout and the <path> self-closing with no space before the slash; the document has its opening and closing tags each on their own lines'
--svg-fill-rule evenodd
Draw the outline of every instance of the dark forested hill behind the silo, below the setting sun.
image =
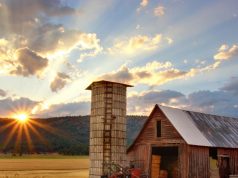
<svg viewBox="0 0 238 178">
<path fill-rule="evenodd" d="M 127 116 L 127 144 L 140 131 L 147 117 Z M 32 119 L 17 125 L 15 120 L 0 118 L 0 151 L 3 153 L 88 154 L 89 116 Z"/>
</svg>

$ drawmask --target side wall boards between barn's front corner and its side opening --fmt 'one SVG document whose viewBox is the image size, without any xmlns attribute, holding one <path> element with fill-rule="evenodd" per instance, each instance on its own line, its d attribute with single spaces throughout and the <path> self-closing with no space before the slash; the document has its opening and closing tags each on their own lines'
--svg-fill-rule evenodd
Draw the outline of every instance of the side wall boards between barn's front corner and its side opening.
<svg viewBox="0 0 238 178">
<path fill-rule="evenodd" d="M 189 146 L 189 178 L 209 178 L 209 148 Z"/>
</svg>

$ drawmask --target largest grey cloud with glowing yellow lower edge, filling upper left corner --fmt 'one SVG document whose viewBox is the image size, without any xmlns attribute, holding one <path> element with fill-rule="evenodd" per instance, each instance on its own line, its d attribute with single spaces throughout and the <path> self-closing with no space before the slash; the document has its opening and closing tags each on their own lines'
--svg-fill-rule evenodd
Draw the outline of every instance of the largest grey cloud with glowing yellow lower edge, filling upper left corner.
<svg viewBox="0 0 238 178">
<path fill-rule="evenodd" d="M 82 61 L 102 51 L 97 35 L 68 29 L 51 21 L 55 16 L 75 14 L 78 10 L 60 0 L 6 1 L 0 9 L 0 36 L 11 43 L 13 50 L 27 47 L 44 57 L 78 49 Z"/>
</svg>

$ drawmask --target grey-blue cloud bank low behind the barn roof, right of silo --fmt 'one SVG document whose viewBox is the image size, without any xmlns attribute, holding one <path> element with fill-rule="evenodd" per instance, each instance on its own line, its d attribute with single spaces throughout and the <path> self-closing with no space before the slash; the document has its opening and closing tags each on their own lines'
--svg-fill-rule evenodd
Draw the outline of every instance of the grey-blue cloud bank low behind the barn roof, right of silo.
<svg viewBox="0 0 238 178">
<path fill-rule="evenodd" d="M 238 117 L 238 98 L 232 92 L 195 91 L 188 95 L 174 90 L 147 91 L 128 98 L 128 113 L 148 115 L 155 104 L 217 115 Z"/>
</svg>

